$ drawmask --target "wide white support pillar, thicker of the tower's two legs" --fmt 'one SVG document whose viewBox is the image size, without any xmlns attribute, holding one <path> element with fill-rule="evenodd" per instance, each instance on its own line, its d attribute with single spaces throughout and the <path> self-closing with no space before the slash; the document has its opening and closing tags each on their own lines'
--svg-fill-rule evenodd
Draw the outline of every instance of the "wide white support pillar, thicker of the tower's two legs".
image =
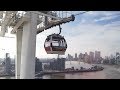
<svg viewBox="0 0 120 90">
<path fill-rule="evenodd" d="M 30 21 L 23 26 L 20 79 L 35 78 L 35 49 L 37 14 L 30 13 Z"/>
</svg>

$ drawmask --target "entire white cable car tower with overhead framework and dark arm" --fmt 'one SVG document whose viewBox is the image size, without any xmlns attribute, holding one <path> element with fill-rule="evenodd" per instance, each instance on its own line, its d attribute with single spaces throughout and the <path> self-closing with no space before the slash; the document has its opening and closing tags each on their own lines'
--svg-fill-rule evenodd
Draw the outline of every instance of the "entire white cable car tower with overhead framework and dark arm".
<svg viewBox="0 0 120 90">
<path fill-rule="evenodd" d="M 0 36 L 4 37 L 9 28 L 16 34 L 16 78 L 35 78 L 36 35 L 74 21 L 74 15 L 71 11 L 0 11 Z"/>
</svg>

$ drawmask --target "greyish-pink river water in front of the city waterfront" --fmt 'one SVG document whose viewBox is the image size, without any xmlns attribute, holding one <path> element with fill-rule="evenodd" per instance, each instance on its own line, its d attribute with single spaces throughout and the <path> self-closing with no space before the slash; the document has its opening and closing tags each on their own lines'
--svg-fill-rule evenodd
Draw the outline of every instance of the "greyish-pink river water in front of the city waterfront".
<svg viewBox="0 0 120 90">
<path fill-rule="evenodd" d="M 103 71 L 44 75 L 43 79 L 120 79 L 120 66 L 102 66 L 104 67 Z M 14 77 L 1 77 L 0 79 L 14 79 Z"/>
</svg>

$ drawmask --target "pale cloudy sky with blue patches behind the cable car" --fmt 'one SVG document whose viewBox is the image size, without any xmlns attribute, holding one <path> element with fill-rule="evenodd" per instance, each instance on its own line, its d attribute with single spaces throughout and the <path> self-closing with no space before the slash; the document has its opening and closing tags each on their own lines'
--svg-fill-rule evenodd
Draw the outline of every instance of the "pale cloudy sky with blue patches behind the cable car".
<svg viewBox="0 0 120 90">
<path fill-rule="evenodd" d="M 75 21 L 61 25 L 61 35 L 65 37 L 68 48 L 65 55 L 101 51 L 101 56 L 120 52 L 120 11 L 89 11 L 75 17 Z M 37 35 L 36 56 L 38 58 L 55 58 L 44 50 L 44 41 L 52 33 L 59 33 L 59 27 L 48 29 Z M 14 35 L 13 35 L 14 36 Z M 3 52 L 16 52 L 15 38 L 0 37 L 0 57 Z"/>
</svg>

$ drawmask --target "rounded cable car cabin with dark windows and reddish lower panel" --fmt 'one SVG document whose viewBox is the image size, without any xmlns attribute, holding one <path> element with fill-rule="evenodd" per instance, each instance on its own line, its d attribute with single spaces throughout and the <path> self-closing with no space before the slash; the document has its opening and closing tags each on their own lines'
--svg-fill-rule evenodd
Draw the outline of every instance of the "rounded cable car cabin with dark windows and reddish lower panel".
<svg viewBox="0 0 120 90">
<path fill-rule="evenodd" d="M 67 43 L 63 36 L 59 34 L 52 34 L 47 36 L 44 48 L 47 54 L 64 55 L 67 49 Z"/>
</svg>

